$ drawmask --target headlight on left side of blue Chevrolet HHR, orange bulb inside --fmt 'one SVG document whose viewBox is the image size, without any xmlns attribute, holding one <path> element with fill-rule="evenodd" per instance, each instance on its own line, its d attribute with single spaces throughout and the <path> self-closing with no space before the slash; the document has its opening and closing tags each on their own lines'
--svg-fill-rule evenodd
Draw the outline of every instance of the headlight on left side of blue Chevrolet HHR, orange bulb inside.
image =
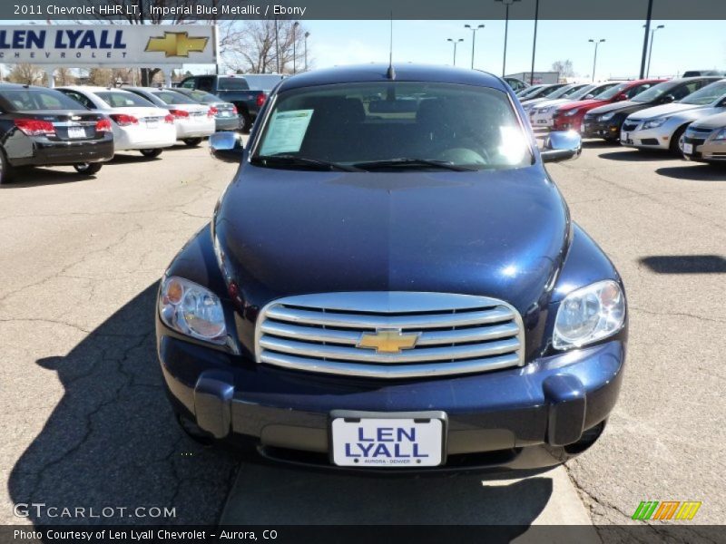
<svg viewBox="0 0 726 544">
<path fill-rule="evenodd" d="M 219 296 L 182 277 L 166 277 L 159 294 L 159 315 L 182 335 L 224 345 L 227 327 Z"/>
</svg>

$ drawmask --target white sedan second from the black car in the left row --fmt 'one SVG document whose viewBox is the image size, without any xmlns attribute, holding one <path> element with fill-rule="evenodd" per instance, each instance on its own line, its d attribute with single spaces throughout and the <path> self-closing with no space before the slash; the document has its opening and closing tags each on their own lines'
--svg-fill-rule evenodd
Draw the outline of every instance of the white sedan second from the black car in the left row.
<svg viewBox="0 0 726 544">
<path fill-rule="evenodd" d="M 123 87 L 125 91 L 138 94 L 154 105 L 165 108 L 174 116 L 176 138 L 189 146 L 197 146 L 202 138 L 215 131 L 214 110 L 191 100 L 181 92 L 153 87 Z"/>
</svg>

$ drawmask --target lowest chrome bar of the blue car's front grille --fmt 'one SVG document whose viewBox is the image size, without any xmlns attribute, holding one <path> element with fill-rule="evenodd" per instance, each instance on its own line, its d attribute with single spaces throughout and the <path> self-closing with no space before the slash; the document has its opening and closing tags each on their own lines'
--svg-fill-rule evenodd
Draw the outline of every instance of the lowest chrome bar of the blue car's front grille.
<svg viewBox="0 0 726 544">
<path fill-rule="evenodd" d="M 310 360 L 294 355 L 270 354 L 268 352 L 262 352 L 260 359 L 262 363 L 274 364 L 290 370 L 368 378 L 427 378 L 431 376 L 472 374 L 517 366 L 519 362 L 519 356 L 516 354 L 500 355 L 488 359 L 458 361 L 451 364 L 401 364 L 398 366 L 334 363 L 319 359 Z"/>
</svg>

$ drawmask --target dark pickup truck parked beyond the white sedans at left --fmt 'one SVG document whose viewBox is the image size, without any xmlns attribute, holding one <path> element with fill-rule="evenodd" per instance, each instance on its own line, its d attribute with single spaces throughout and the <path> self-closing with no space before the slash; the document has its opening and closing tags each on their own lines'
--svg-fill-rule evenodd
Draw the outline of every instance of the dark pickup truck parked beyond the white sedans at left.
<svg viewBox="0 0 726 544">
<path fill-rule="evenodd" d="M 182 89 L 199 89 L 219 96 L 224 102 L 237 107 L 242 131 L 249 132 L 260 108 L 267 100 L 264 91 L 250 90 L 250 85 L 239 75 L 191 75 L 179 84 Z"/>
</svg>

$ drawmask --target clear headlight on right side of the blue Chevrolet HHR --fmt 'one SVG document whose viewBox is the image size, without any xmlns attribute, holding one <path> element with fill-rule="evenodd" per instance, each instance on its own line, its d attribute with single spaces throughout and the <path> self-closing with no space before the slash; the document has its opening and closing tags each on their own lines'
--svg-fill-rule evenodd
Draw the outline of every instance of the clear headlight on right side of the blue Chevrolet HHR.
<svg viewBox="0 0 726 544">
<path fill-rule="evenodd" d="M 554 319 L 556 349 L 582 347 L 614 335 L 625 321 L 625 296 L 613 280 L 599 281 L 564 297 Z"/>
</svg>

